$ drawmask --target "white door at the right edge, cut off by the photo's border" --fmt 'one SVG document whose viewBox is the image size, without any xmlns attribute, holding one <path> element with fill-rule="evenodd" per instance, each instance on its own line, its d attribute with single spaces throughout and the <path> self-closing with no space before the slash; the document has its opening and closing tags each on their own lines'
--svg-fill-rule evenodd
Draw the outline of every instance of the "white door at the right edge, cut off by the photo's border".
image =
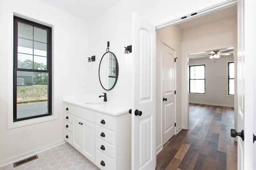
<svg viewBox="0 0 256 170">
<path fill-rule="evenodd" d="M 238 137 L 237 142 L 237 169 L 253 170 L 253 27 L 252 27 L 252 0 L 238 1 L 238 127 L 237 131 L 244 130 L 244 141 Z M 254 60 L 255 63 L 255 60 Z"/>
</svg>

